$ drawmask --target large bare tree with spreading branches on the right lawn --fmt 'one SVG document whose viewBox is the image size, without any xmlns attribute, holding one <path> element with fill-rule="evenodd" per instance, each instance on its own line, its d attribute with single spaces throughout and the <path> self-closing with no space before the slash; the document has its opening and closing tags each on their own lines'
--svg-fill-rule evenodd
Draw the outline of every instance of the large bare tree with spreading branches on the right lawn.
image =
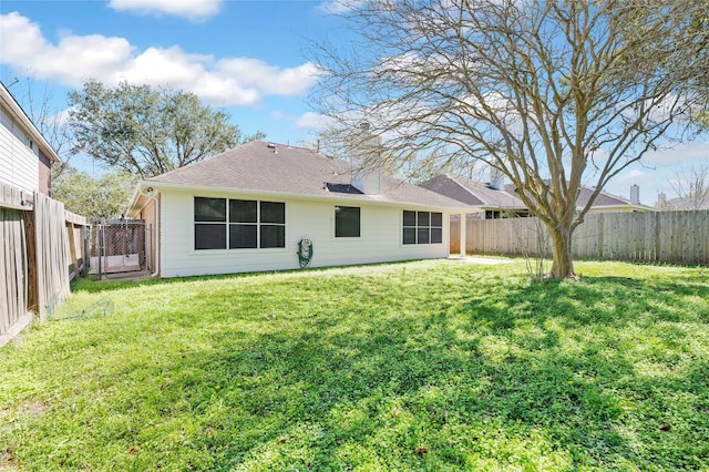
<svg viewBox="0 0 709 472">
<path fill-rule="evenodd" d="M 575 277 L 572 234 L 595 197 L 681 133 L 707 82 L 707 0 L 350 7 L 351 48 L 314 47 L 320 113 L 349 141 L 367 121 L 388 150 L 377 161 L 499 170 L 549 233 L 551 277 Z M 582 182 L 595 192 L 577 211 Z"/>
</svg>

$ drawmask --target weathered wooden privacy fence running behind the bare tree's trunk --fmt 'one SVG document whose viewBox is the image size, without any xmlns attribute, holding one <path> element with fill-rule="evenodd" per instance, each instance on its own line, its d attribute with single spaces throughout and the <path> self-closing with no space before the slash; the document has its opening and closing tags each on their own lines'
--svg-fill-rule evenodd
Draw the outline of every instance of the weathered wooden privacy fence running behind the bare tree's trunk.
<svg viewBox="0 0 709 472">
<path fill-rule="evenodd" d="M 466 220 L 467 254 L 549 254 L 536 218 Z M 573 256 L 643 263 L 709 265 L 709 211 L 592 213 L 574 232 Z M 460 222 L 451 222 L 451 253 L 460 252 Z"/>
</svg>

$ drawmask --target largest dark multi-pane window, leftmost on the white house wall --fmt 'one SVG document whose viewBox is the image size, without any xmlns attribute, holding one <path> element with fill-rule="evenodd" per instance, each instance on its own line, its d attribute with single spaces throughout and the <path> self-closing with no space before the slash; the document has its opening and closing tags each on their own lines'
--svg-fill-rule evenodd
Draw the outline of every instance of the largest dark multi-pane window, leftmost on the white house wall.
<svg viewBox="0 0 709 472">
<path fill-rule="evenodd" d="M 195 197 L 195 249 L 286 247 L 286 204 Z"/>
</svg>

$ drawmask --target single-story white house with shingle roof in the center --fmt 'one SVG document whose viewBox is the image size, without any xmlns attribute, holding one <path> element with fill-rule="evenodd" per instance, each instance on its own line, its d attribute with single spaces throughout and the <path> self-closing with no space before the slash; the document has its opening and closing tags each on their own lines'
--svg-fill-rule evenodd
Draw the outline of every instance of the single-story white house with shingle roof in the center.
<svg viewBox="0 0 709 472">
<path fill-rule="evenodd" d="M 467 211 L 342 160 L 257 141 L 142 181 L 127 215 L 156 229 L 155 274 L 178 277 L 448 257 L 450 215 Z M 304 239 L 310 258 L 298 255 Z"/>
</svg>

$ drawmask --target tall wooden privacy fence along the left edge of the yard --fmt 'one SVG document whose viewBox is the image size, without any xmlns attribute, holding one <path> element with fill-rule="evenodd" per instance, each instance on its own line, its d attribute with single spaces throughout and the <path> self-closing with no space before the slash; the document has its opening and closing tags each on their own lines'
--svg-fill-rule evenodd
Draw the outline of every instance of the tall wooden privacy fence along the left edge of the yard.
<svg viewBox="0 0 709 472">
<path fill-rule="evenodd" d="M 0 182 L 0 338 L 25 325 L 31 311 L 45 317 L 85 270 L 86 218 L 44 195 Z"/>
</svg>

